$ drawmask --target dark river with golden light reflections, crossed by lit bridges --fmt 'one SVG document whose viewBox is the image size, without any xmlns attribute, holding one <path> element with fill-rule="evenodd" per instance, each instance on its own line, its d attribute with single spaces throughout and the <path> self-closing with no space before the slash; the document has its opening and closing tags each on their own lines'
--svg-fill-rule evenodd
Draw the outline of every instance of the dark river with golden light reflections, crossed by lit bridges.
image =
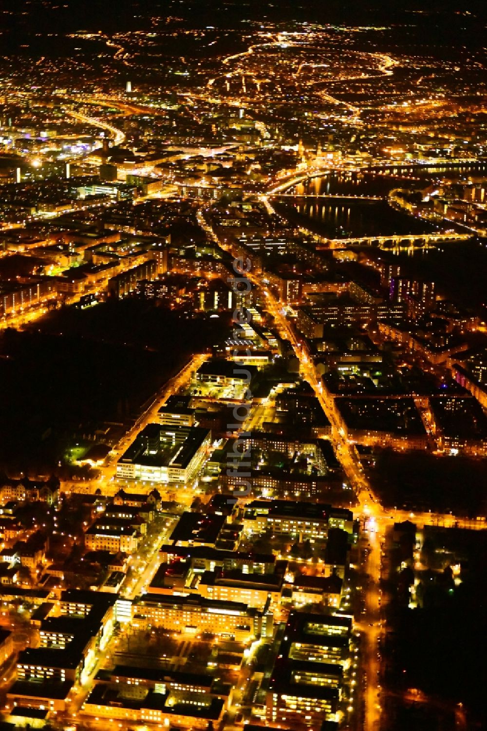
<svg viewBox="0 0 487 731">
<path fill-rule="evenodd" d="M 295 186 L 296 196 L 279 202 L 279 211 L 328 238 L 348 235 L 392 235 L 435 230 L 435 224 L 390 208 L 385 200 L 326 200 L 316 195 L 386 196 L 397 187 L 424 186 L 441 178 L 487 180 L 487 163 L 467 166 L 403 166 L 358 173 L 332 171 Z M 451 226 L 449 226 L 451 228 Z M 383 251 L 381 257 L 401 262 L 404 273 L 437 282 L 448 298 L 487 316 L 487 241 L 473 239 L 441 243 L 431 249 Z"/>
</svg>

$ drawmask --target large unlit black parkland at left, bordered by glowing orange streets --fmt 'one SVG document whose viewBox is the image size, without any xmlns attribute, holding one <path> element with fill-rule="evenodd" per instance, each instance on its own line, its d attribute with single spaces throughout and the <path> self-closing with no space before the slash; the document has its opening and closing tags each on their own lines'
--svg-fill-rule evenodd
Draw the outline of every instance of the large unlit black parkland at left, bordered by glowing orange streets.
<svg viewBox="0 0 487 731">
<path fill-rule="evenodd" d="M 186 363 L 224 336 L 222 319 L 186 319 L 124 300 L 66 308 L 0 338 L 0 469 L 45 474 L 75 434 L 129 423 Z"/>
</svg>

